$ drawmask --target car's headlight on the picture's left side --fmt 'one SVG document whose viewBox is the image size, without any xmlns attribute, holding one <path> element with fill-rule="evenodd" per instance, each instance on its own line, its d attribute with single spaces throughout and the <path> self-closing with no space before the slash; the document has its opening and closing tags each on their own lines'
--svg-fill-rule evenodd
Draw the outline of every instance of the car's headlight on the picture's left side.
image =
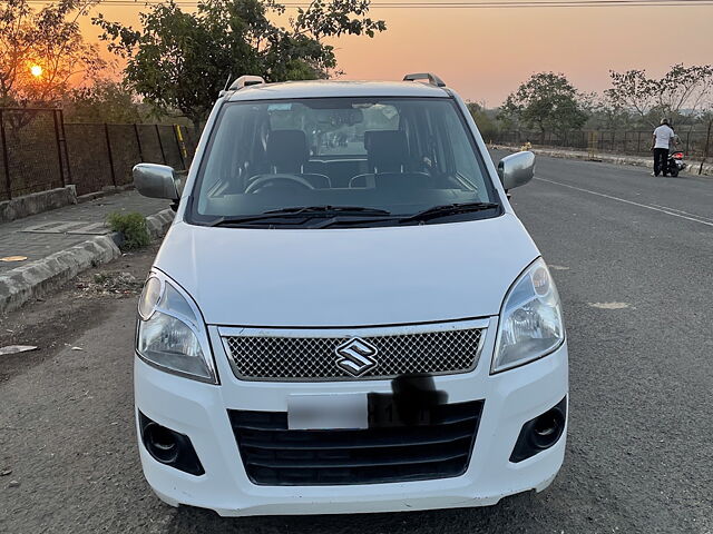
<svg viewBox="0 0 713 534">
<path fill-rule="evenodd" d="M 168 373 L 217 383 L 198 307 L 177 284 L 158 271 L 146 280 L 138 303 L 136 352 Z"/>
</svg>

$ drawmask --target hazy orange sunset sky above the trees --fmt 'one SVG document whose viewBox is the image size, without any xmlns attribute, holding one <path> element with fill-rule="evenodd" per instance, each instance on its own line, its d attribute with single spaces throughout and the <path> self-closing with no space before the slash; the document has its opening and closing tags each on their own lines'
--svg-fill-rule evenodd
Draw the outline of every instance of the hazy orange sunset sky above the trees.
<svg viewBox="0 0 713 534">
<path fill-rule="evenodd" d="M 143 6 L 100 6 L 136 24 Z M 189 9 L 189 8 L 186 8 Z M 400 79 L 432 71 L 469 100 L 498 106 L 531 73 L 565 73 L 583 91 L 608 87 L 608 70 L 662 75 L 676 62 L 713 63 L 713 6 L 388 9 L 374 39 L 334 41 L 349 79 Z M 87 36 L 96 28 L 85 21 Z"/>
</svg>

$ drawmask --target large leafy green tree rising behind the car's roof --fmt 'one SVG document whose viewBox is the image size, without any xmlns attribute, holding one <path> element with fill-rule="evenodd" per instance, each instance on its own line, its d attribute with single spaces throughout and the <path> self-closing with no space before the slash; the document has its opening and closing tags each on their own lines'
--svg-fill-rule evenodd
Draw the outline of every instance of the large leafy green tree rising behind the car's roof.
<svg viewBox="0 0 713 534">
<path fill-rule="evenodd" d="M 336 58 L 322 39 L 385 29 L 367 16 L 369 7 L 370 0 L 314 0 L 282 28 L 270 20 L 285 11 L 274 0 L 198 0 L 191 13 L 170 0 L 141 13 L 140 30 L 101 14 L 94 22 L 127 59 L 128 85 L 158 110 L 177 109 L 197 126 L 229 78 L 325 78 Z"/>
</svg>

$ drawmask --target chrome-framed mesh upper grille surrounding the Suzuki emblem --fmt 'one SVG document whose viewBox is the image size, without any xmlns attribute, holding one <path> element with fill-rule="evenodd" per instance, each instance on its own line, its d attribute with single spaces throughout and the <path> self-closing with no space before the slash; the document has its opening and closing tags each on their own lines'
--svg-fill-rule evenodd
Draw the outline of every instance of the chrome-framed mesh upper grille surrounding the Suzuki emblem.
<svg viewBox="0 0 713 534">
<path fill-rule="evenodd" d="M 478 365 L 487 322 L 349 330 L 222 328 L 235 376 L 244 380 L 388 379 L 401 375 L 468 373 Z M 229 332 L 227 332 L 229 330 Z M 354 376 L 338 365 L 350 339 L 375 348 L 375 365 Z"/>
</svg>

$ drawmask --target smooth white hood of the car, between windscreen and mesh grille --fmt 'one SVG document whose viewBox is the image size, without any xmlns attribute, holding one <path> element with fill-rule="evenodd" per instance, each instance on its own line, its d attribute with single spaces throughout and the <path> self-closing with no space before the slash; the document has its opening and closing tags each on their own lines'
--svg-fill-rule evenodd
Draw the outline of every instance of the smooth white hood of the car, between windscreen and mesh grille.
<svg viewBox="0 0 713 534">
<path fill-rule="evenodd" d="M 207 324 L 372 326 L 485 317 L 539 256 L 510 214 L 360 229 L 208 228 L 176 222 L 156 267 Z"/>
</svg>

